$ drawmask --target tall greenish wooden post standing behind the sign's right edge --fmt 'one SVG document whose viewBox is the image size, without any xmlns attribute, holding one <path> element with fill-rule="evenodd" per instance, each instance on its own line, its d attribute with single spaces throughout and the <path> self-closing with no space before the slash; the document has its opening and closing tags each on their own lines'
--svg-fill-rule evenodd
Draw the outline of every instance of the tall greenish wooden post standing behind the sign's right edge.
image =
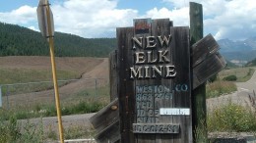
<svg viewBox="0 0 256 143">
<path fill-rule="evenodd" d="M 190 2 L 190 45 L 203 38 L 203 7 Z M 192 62 L 192 61 L 191 61 Z M 192 82 L 193 83 L 193 82 Z M 206 84 L 192 91 L 192 124 L 194 142 L 206 142 Z"/>
</svg>

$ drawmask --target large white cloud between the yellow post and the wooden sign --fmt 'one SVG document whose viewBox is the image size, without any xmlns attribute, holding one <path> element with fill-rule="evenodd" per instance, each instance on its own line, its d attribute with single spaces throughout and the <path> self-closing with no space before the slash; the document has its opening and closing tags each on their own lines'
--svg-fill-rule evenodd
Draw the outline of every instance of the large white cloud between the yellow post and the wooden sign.
<svg viewBox="0 0 256 143">
<path fill-rule="evenodd" d="M 67 0 L 53 5 L 55 29 L 84 37 L 114 36 L 116 27 L 131 25 L 138 14 L 116 7 L 117 1 L 109 0 Z"/>
</svg>

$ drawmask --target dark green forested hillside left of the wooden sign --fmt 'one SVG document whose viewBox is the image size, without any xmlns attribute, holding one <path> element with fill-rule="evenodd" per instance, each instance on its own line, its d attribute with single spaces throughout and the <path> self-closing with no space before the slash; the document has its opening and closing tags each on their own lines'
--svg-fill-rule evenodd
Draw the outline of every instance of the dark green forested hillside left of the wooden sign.
<svg viewBox="0 0 256 143">
<path fill-rule="evenodd" d="M 115 38 L 82 38 L 55 32 L 58 57 L 107 57 L 116 49 Z M 49 47 L 41 33 L 15 24 L 0 23 L 0 56 L 47 56 Z"/>
</svg>

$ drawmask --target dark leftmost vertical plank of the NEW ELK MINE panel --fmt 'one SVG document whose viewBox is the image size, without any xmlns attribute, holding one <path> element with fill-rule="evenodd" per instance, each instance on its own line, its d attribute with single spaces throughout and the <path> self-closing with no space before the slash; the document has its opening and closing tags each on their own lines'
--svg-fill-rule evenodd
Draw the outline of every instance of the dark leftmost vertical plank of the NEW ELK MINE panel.
<svg viewBox="0 0 256 143">
<path fill-rule="evenodd" d="M 118 98 L 121 143 L 135 142 L 132 123 L 135 119 L 134 82 L 129 80 L 129 68 L 134 63 L 131 39 L 134 35 L 133 27 L 116 29 L 117 37 L 117 67 L 118 67 Z"/>
</svg>

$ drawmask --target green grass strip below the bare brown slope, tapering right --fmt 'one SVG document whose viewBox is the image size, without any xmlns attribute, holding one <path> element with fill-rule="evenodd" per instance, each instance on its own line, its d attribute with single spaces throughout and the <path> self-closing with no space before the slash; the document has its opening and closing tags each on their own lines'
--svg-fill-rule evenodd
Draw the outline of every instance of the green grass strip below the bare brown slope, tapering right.
<svg viewBox="0 0 256 143">
<path fill-rule="evenodd" d="M 57 71 L 58 80 L 79 78 L 79 72 Z M 40 82 L 39 82 L 40 81 Z M 41 82 L 42 81 L 42 82 Z M 44 82 L 46 81 L 46 82 Z M 27 82 L 37 82 L 26 84 Z M 67 82 L 59 82 L 59 86 Z M 3 95 L 21 94 L 43 91 L 53 88 L 52 73 L 48 70 L 28 70 L 28 69 L 0 69 L 0 85 L 2 84 Z M 14 85 L 3 85 L 14 84 Z"/>
</svg>

